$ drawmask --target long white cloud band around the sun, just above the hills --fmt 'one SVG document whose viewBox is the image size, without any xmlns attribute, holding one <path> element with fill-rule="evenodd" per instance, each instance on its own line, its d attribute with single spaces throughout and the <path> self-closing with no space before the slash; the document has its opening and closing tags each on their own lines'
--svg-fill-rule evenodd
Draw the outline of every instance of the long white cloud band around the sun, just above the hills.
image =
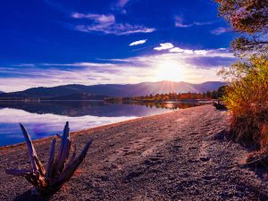
<svg viewBox="0 0 268 201">
<path fill-rule="evenodd" d="M 39 86 L 129 84 L 169 79 L 200 83 L 220 80 L 216 72 L 234 58 L 226 48 L 174 48 L 178 51 L 171 53 L 172 48 L 169 48 L 169 53 L 102 60 L 99 63 L 27 63 L 31 64 L 27 69 L 21 68 L 23 63 L 21 66 L 3 66 L 0 67 L 0 89 L 10 92 Z M 172 77 L 163 78 L 163 72 Z"/>
</svg>

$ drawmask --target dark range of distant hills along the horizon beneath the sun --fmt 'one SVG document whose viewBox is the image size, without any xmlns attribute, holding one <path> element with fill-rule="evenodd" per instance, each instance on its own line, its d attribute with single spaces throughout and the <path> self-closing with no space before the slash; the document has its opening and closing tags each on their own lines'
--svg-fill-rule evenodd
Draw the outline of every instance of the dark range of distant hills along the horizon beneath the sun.
<svg viewBox="0 0 268 201">
<path fill-rule="evenodd" d="M 225 85 L 225 82 L 208 81 L 202 84 L 188 82 L 158 81 L 139 84 L 65 85 L 53 88 L 29 88 L 24 91 L 0 94 L 0 100 L 53 99 L 53 100 L 96 100 L 105 96 L 146 96 L 165 93 L 202 93 Z"/>
</svg>

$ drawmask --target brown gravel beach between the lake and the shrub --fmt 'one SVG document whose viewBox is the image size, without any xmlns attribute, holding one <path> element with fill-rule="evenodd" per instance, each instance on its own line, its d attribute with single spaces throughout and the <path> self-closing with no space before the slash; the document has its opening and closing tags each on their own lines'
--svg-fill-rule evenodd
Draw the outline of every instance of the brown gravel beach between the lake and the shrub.
<svg viewBox="0 0 268 201">
<path fill-rule="evenodd" d="M 228 118 L 205 105 L 74 133 L 78 147 L 95 138 L 87 160 L 44 199 L 268 200 L 267 180 L 237 166 L 247 150 L 222 138 Z M 35 144 L 47 155 L 47 139 Z M 25 180 L 4 173 L 28 165 L 24 146 L 0 149 L 0 200 L 35 200 Z"/>
</svg>

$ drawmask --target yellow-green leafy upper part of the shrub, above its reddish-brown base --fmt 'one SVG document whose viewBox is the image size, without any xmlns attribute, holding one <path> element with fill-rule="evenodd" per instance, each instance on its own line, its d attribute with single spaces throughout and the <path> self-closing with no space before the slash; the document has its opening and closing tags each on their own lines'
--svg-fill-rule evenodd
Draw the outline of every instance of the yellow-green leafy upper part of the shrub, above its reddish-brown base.
<svg viewBox="0 0 268 201">
<path fill-rule="evenodd" d="M 232 79 L 223 98 L 232 111 L 247 113 L 256 107 L 267 107 L 268 60 L 264 55 L 253 55 L 248 61 L 234 63 L 223 73 Z"/>
</svg>

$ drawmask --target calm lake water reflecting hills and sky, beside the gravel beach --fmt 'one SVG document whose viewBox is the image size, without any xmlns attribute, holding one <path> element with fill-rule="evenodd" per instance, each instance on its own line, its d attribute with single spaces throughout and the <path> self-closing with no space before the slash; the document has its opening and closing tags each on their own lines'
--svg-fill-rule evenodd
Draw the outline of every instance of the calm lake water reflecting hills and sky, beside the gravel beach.
<svg viewBox="0 0 268 201">
<path fill-rule="evenodd" d="M 0 102 L 0 147 L 23 142 L 18 123 L 23 123 L 36 139 L 61 133 L 65 121 L 70 121 L 74 131 L 195 105 L 200 103 Z"/>
</svg>

